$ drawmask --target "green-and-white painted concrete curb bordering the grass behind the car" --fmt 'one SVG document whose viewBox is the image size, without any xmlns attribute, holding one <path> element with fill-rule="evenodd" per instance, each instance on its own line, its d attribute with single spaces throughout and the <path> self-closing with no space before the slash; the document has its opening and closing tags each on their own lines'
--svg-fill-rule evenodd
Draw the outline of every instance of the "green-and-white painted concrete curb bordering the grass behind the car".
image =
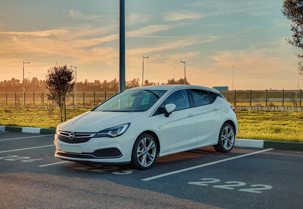
<svg viewBox="0 0 303 209">
<path fill-rule="evenodd" d="M 31 128 L 31 127 L 0 125 L 0 132 L 4 132 L 4 131 L 37 133 L 37 134 L 56 133 L 56 129 L 54 128 Z M 303 150 L 303 142 L 283 142 L 283 141 L 270 141 L 270 140 L 258 140 L 258 139 L 235 139 L 235 146 Z"/>
</svg>

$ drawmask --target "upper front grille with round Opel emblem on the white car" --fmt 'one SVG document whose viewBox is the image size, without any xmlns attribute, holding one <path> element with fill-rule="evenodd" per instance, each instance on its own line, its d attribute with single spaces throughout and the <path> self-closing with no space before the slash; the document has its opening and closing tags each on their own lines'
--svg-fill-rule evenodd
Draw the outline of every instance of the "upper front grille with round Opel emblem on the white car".
<svg viewBox="0 0 303 209">
<path fill-rule="evenodd" d="M 73 133 L 75 137 L 73 139 L 70 138 L 70 134 Z M 88 142 L 96 133 L 77 133 L 77 132 L 67 132 L 67 131 L 59 131 L 59 140 L 61 142 L 69 143 L 69 144 L 78 144 Z"/>
</svg>

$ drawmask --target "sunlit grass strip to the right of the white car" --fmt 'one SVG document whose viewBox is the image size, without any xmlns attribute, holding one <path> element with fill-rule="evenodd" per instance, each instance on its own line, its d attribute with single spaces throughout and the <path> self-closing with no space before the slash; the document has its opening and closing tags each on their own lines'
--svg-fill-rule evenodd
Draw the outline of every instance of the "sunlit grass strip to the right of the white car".
<svg viewBox="0 0 303 209">
<path fill-rule="evenodd" d="M 303 142 L 303 112 L 236 111 L 237 138 Z"/>
</svg>

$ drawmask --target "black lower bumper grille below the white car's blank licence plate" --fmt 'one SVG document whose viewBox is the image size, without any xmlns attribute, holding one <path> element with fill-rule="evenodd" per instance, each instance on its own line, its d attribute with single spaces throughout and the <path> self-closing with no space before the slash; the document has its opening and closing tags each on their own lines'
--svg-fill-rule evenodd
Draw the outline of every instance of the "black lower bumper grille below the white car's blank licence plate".
<svg viewBox="0 0 303 209">
<path fill-rule="evenodd" d="M 98 159 L 98 158 L 119 158 L 122 156 L 122 153 L 117 148 L 106 148 L 106 149 L 97 149 L 95 152 L 87 153 L 71 153 L 71 152 L 61 152 L 58 151 L 57 155 L 73 158 L 82 158 L 82 159 Z"/>
</svg>

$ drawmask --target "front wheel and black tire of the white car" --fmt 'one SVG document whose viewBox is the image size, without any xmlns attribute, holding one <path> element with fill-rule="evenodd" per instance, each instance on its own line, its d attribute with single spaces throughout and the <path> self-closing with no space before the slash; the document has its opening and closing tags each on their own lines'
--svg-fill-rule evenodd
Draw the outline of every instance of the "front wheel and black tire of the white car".
<svg viewBox="0 0 303 209">
<path fill-rule="evenodd" d="M 154 137 L 141 134 L 132 149 L 131 166 L 138 170 L 147 170 L 156 162 L 157 154 L 157 143 Z"/>
</svg>

